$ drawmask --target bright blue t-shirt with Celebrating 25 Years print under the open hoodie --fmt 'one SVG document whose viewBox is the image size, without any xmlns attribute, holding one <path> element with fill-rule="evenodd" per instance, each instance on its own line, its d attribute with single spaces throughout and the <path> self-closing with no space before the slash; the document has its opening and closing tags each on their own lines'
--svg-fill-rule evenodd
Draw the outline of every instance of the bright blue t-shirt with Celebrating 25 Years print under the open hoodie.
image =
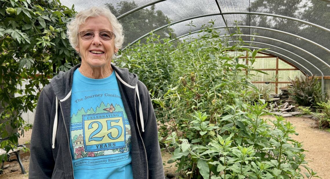
<svg viewBox="0 0 330 179">
<path fill-rule="evenodd" d="M 103 79 L 74 72 L 70 139 L 75 178 L 133 178 L 131 127 L 115 72 Z"/>
</svg>

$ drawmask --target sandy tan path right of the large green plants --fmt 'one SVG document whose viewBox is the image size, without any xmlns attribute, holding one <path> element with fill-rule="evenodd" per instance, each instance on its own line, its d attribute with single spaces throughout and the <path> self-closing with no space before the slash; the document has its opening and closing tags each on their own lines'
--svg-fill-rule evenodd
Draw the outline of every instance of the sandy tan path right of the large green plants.
<svg viewBox="0 0 330 179">
<path fill-rule="evenodd" d="M 269 116 L 270 119 L 275 117 Z M 330 178 L 330 133 L 315 128 L 313 119 L 306 117 L 286 117 L 295 127 L 298 136 L 293 139 L 303 142 L 308 165 L 323 179 Z"/>
</svg>

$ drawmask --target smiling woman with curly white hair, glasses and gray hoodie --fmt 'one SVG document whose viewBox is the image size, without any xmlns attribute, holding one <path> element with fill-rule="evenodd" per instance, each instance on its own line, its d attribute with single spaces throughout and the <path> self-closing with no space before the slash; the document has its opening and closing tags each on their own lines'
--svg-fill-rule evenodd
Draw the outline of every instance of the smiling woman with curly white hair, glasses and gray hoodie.
<svg viewBox="0 0 330 179">
<path fill-rule="evenodd" d="M 136 74 L 111 64 L 121 24 L 93 7 L 68 24 L 68 36 L 82 62 L 40 94 L 29 178 L 165 178 L 149 92 Z"/>
</svg>

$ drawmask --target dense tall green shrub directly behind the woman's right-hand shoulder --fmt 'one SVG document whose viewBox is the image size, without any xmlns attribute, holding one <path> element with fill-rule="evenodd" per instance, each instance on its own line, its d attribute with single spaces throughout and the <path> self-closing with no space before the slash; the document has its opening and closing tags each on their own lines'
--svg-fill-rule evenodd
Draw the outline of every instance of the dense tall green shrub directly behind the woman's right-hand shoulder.
<svg viewBox="0 0 330 179">
<path fill-rule="evenodd" d="M 171 60 L 171 51 L 174 46 L 169 43 L 170 40 L 150 33 L 145 43 L 137 42 L 133 48 L 126 49 L 121 57 L 114 60 L 119 66 L 137 74 L 147 86 L 153 96 L 155 113 L 161 121 L 168 119 L 163 97 L 173 82 L 171 73 L 174 62 Z"/>
</svg>

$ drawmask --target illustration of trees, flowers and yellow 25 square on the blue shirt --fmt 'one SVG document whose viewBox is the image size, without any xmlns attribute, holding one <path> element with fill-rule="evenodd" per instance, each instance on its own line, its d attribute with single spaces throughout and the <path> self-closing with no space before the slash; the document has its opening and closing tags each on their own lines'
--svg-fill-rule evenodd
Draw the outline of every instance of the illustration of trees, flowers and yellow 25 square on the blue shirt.
<svg viewBox="0 0 330 179">
<path fill-rule="evenodd" d="M 124 108 L 103 102 L 81 108 L 71 116 L 71 143 L 74 159 L 128 152 L 131 130 Z"/>
</svg>

